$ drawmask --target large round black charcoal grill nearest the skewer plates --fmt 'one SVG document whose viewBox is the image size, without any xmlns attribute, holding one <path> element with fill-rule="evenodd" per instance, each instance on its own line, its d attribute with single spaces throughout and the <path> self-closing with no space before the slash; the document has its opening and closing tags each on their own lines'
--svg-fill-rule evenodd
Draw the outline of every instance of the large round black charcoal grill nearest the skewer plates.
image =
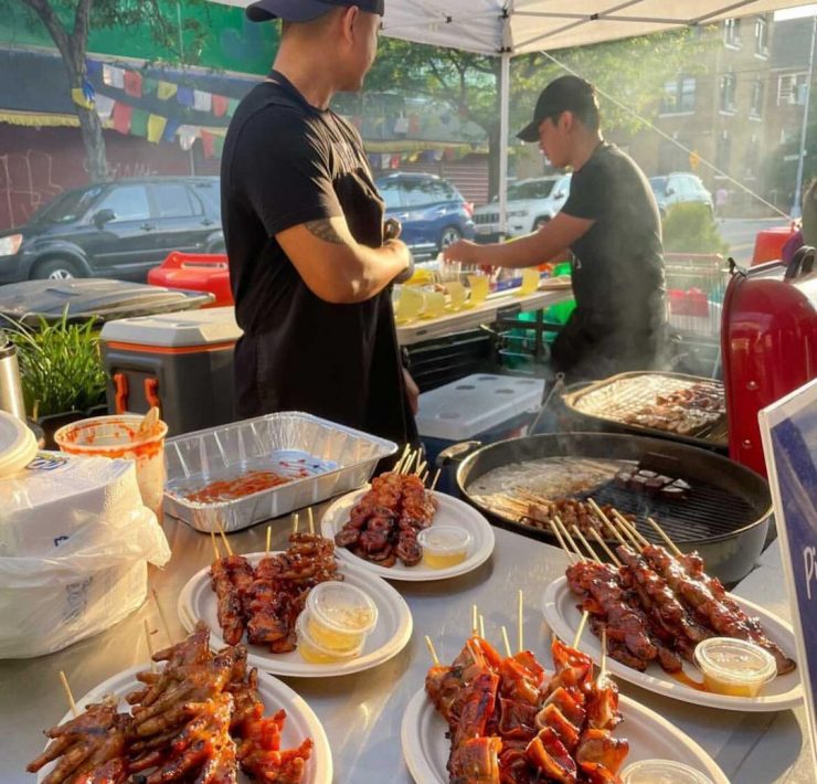
<svg viewBox="0 0 817 784">
<path fill-rule="evenodd" d="M 558 544 L 549 530 L 532 528 L 489 509 L 474 498 L 468 488 L 494 468 L 527 463 L 543 457 L 622 459 L 654 462 L 673 466 L 675 476 L 688 481 L 692 492 L 683 500 L 666 500 L 618 487 L 613 481 L 591 494 L 598 504 L 612 504 L 623 513 L 637 518 L 638 530 L 650 541 L 661 543 L 646 522 L 654 517 L 685 552 L 697 550 L 707 571 L 731 585 L 753 569 L 770 530 L 772 499 L 766 481 L 753 470 L 725 457 L 671 441 L 607 433 L 556 433 L 511 438 L 489 446 L 476 442 L 456 472 L 463 498 L 479 509 L 496 526 L 532 539 Z M 450 447 L 448 455 L 461 453 Z M 443 453 L 445 455 L 446 453 Z M 600 551 L 600 555 L 603 553 Z"/>
</svg>

